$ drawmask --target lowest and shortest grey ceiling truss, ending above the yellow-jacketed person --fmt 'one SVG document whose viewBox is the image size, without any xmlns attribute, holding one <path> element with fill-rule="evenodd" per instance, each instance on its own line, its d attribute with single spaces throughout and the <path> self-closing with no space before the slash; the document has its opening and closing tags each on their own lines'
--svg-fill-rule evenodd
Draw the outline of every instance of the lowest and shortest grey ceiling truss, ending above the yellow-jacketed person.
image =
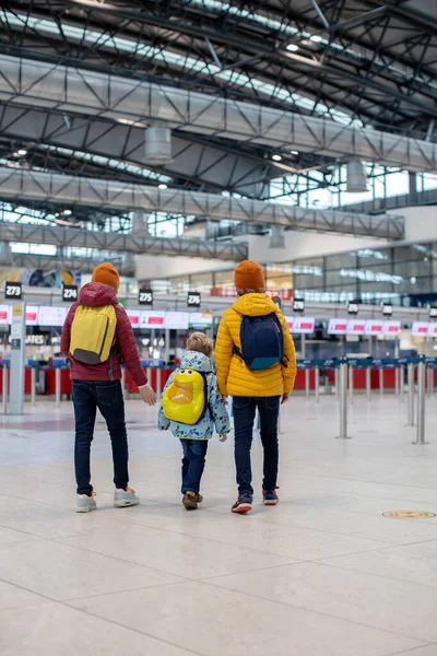
<svg viewBox="0 0 437 656">
<path fill-rule="evenodd" d="M 74 230 L 71 227 L 44 227 L 20 223 L 0 223 L 0 241 L 23 244 L 52 244 L 97 248 L 137 255 L 176 255 L 239 261 L 247 258 L 247 244 L 212 242 L 194 238 L 163 238 L 118 233 Z"/>
</svg>

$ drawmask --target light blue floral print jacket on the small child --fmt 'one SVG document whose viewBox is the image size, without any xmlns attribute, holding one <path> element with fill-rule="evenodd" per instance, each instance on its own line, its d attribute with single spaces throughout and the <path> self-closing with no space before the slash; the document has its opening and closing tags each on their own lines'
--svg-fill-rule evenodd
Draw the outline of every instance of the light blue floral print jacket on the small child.
<svg viewBox="0 0 437 656">
<path fill-rule="evenodd" d="M 187 351 L 180 363 L 181 370 L 191 368 L 206 375 L 208 383 L 208 408 L 203 419 L 194 425 L 181 424 L 170 421 L 164 415 L 163 406 L 160 406 L 157 425 L 160 431 L 170 429 L 175 437 L 179 440 L 210 440 L 215 431 L 222 435 L 231 432 L 231 422 L 223 397 L 218 391 L 217 380 L 213 372 L 212 363 L 206 355 L 197 351 Z M 168 378 L 165 389 L 172 385 L 176 372 Z"/>
</svg>

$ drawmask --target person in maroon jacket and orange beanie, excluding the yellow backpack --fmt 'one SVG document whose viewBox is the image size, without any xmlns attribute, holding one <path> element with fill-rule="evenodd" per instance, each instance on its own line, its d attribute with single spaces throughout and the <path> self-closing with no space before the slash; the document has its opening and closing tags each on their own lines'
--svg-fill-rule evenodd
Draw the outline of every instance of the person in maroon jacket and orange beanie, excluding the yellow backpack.
<svg viewBox="0 0 437 656">
<path fill-rule="evenodd" d="M 121 389 L 121 361 L 129 370 L 145 403 L 154 406 L 156 395 L 147 385 L 141 365 L 132 327 L 125 308 L 118 303 L 120 284 L 118 271 L 109 262 L 94 269 L 92 282 L 85 284 L 78 303 L 71 306 L 61 338 L 61 351 L 70 361 L 73 382 L 73 407 L 75 419 L 74 469 L 78 484 L 76 512 L 87 513 L 96 507 L 95 492 L 91 484 L 90 453 L 94 435 L 97 408 L 106 420 L 113 445 L 114 505 L 137 505 L 140 497 L 129 488 L 128 435 L 125 422 L 125 401 Z M 110 360 L 90 365 L 79 362 L 70 353 L 71 326 L 80 305 L 102 307 L 114 305 L 117 316 L 116 341 Z"/>
</svg>

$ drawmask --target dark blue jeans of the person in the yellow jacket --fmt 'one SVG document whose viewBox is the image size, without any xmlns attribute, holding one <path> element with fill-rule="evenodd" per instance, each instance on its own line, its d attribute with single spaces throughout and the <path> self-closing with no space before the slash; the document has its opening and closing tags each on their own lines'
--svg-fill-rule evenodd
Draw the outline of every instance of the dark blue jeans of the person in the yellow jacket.
<svg viewBox="0 0 437 656">
<path fill-rule="evenodd" d="M 281 397 L 234 397 L 235 466 L 238 492 L 253 494 L 250 448 L 255 412 L 258 408 L 261 421 L 261 442 L 264 449 L 263 490 L 274 490 L 277 481 L 279 444 L 277 419 Z"/>
</svg>

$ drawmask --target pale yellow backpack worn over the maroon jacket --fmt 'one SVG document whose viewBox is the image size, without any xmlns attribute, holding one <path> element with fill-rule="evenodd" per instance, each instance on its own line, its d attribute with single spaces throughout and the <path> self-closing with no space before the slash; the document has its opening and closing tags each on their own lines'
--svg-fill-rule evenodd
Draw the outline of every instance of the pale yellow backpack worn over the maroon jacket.
<svg viewBox="0 0 437 656">
<path fill-rule="evenodd" d="M 117 316 L 114 305 L 80 305 L 71 326 L 70 353 L 79 362 L 102 364 L 109 360 L 115 342 Z"/>
</svg>

